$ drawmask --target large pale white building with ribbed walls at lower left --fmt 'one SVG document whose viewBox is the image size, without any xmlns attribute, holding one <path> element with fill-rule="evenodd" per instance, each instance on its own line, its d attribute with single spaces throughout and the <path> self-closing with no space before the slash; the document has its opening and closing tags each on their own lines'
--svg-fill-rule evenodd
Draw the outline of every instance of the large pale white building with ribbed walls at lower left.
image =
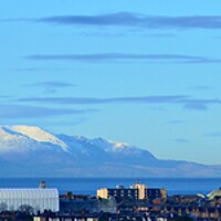
<svg viewBox="0 0 221 221">
<path fill-rule="evenodd" d="M 28 207 L 33 208 L 34 212 L 57 212 L 57 189 L 0 189 L 0 210 L 15 211 Z"/>
</svg>

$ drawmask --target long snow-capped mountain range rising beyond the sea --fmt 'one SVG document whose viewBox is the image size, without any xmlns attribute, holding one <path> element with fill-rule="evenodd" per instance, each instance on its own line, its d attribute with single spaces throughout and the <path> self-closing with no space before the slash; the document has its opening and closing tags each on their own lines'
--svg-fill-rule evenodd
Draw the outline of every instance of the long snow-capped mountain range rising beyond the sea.
<svg viewBox="0 0 221 221">
<path fill-rule="evenodd" d="M 148 150 L 103 138 L 54 135 L 33 126 L 0 127 L 2 176 L 207 177 L 221 167 L 159 160 Z"/>
</svg>

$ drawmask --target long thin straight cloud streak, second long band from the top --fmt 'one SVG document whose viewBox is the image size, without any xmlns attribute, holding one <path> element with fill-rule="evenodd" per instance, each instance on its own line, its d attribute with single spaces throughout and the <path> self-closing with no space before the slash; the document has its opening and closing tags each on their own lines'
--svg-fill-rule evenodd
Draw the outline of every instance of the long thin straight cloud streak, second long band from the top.
<svg viewBox="0 0 221 221">
<path fill-rule="evenodd" d="M 220 63 L 220 59 L 192 56 L 185 54 L 31 54 L 24 59 L 32 61 L 70 61 L 70 62 L 171 62 L 171 63 Z"/>
</svg>

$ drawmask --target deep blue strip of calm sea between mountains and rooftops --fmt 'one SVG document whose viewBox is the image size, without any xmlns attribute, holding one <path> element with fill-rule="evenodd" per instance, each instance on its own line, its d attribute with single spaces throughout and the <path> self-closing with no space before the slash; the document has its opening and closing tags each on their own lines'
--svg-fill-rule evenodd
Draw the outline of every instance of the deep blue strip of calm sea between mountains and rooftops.
<svg viewBox="0 0 221 221">
<path fill-rule="evenodd" d="M 131 186 L 135 178 L 1 178 L 0 188 L 36 188 L 40 181 L 48 187 L 57 188 L 61 193 L 72 191 L 78 194 L 95 196 L 103 187 L 117 185 Z M 140 178 L 149 188 L 166 188 L 168 194 L 207 194 L 221 187 L 221 178 Z"/>
</svg>

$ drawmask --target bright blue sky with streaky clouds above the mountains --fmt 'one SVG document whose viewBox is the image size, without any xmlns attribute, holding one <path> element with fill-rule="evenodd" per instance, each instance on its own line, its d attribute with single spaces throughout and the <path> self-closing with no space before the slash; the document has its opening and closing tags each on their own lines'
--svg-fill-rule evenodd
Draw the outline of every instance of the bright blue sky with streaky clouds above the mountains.
<svg viewBox="0 0 221 221">
<path fill-rule="evenodd" d="M 0 122 L 220 164 L 221 2 L 2 0 Z"/>
</svg>

